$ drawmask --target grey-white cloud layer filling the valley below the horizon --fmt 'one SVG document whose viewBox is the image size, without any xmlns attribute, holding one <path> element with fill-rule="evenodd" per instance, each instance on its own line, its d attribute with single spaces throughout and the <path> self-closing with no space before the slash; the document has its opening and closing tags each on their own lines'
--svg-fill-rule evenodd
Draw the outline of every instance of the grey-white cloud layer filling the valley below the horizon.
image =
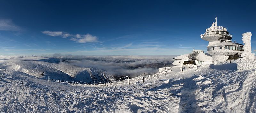
<svg viewBox="0 0 256 113">
<path fill-rule="evenodd" d="M 154 73 L 158 67 L 164 67 L 164 64 L 171 66 L 172 58 L 175 56 L 73 56 L 53 54 L 52 57 L 58 57 L 68 60 L 69 64 L 80 67 L 93 67 L 106 70 L 114 76 L 139 76 L 143 73 Z M 49 56 L 48 56 L 49 57 Z M 67 62 L 60 62 L 65 64 Z"/>
</svg>

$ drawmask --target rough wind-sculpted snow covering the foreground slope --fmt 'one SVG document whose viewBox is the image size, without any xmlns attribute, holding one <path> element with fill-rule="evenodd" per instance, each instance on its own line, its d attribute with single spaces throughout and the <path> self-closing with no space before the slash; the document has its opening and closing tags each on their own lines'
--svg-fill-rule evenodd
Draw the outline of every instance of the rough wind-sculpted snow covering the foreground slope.
<svg viewBox="0 0 256 113">
<path fill-rule="evenodd" d="M 70 85 L 0 69 L 0 112 L 256 111 L 256 70 L 238 72 L 236 63 L 166 68 L 172 71 L 130 86 Z"/>
</svg>

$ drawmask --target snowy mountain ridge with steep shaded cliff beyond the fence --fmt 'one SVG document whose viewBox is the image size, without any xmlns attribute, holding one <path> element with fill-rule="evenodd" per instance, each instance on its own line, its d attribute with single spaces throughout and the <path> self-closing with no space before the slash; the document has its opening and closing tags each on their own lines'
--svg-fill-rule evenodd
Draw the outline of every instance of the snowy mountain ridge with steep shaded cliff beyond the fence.
<svg viewBox="0 0 256 113">
<path fill-rule="evenodd" d="M 48 76 L 50 76 L 50 79 L 84 82 L 100 82 L 113 79 L 111 75 L 101 69 L 82 68 L 51 62 L 54 61 L 46 57 L 26 56 L 0 60 L 0 68 L 24 72 L 43 79 L 48 79 Z M 44 76 L 41 76 L 42 73 Z"/>
</svg>

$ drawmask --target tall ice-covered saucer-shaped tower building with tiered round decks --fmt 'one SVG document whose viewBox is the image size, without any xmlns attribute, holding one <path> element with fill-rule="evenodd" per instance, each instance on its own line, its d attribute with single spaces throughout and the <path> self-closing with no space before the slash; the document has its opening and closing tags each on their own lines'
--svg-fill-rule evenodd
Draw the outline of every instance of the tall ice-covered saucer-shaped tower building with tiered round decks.
<svg viewBox="0 0 256 113">
<path fill-rule="evenodd" d="M 243 44 L 233 43 L 231 41 L 232 35 L 227 29 L 222 26 L 217 26 L 217 17 L 215 23 L 206 29 L 204 34 L 201 34 L 203 40 L 209 41 L 207 46 L 207 53 L 212 56 L 214 60 L 228 60 L 240 58 L 243 52 Z"/>
</svg>

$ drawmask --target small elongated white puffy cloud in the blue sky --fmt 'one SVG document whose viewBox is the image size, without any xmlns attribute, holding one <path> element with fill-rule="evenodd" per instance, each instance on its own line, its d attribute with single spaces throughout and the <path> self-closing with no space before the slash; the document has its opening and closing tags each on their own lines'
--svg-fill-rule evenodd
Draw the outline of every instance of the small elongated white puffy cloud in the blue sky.
<svg viewBox="0 0 256 113">
<path fill-rule="evenodd" d="M 77 43 L 90 43 L 90 42 L 99 42 L 97 36 L 92 36 L 91 34 L 76 34 L 72 35 L 63 31 L 42 31 L 43 34 L 49 36 L 60 36 L 62 38 L 71 37 L 70 40 L 76 41 Z"/>
</svg>

